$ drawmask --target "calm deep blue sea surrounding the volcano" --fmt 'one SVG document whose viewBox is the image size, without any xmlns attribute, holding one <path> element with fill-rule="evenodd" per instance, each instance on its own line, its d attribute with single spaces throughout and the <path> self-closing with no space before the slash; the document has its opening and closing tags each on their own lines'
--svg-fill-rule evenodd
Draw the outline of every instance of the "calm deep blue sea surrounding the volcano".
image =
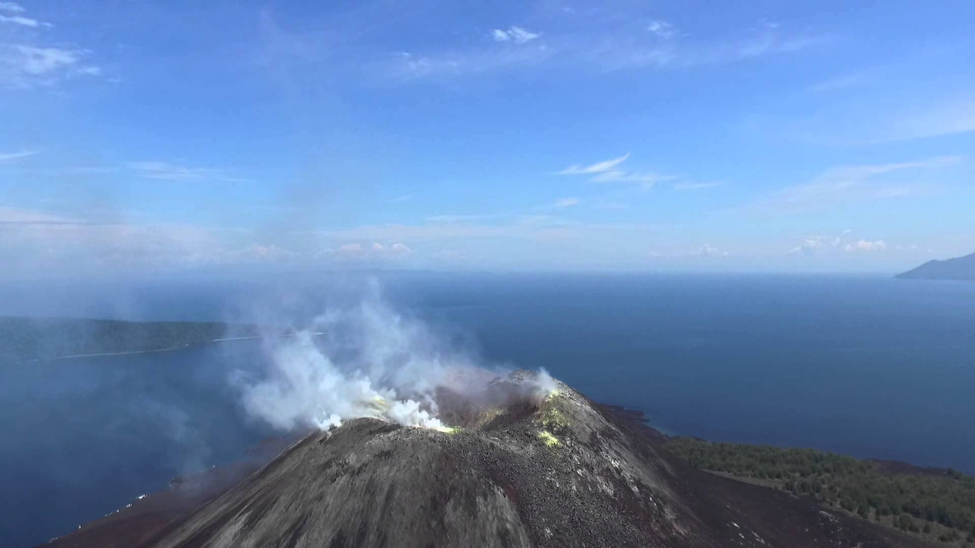
<svg viewBox="0 0 975 548">
<path fill-rule="evenodd" d="M 350 284 L 7 284 L 0 314 L 231 319 L 254 294 L 287 294 L 297 317 L 321 312 Z M 595 400 L 645 411 L 668 433 L 975 473 L 975 284 L 423 273 L 383 284 L 398 307 L 485 361 L 547 368 Z M 5 366 L 0 545 L 66 533 L 266 436 L 225 381 L 259 361 L 254 341 L 227 341 Z"/>
</svg>

